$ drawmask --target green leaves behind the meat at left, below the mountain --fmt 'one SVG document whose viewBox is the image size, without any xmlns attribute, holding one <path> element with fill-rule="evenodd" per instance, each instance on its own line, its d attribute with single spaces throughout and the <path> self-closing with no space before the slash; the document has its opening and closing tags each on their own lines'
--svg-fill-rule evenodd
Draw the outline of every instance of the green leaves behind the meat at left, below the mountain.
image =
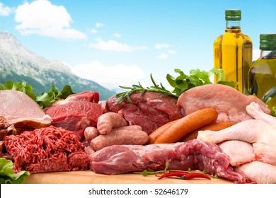
<svg viewBox="0 0 276 198">
<path fill-rule="evenodd" d="M 68 95 L 73 94 L 71 87 L 66 85 L 62 91 L 58 91 L 57 88 L 51 84 L 52 88 L 47 93 L 41 93 L 40 95 L 35 95 L 33 92 L 33 87 L 28 85 L 25 81 L 23 82 L 13 82 L 7 81 L 6 83 L 0 84 L 0 90 L 16 90 L 27 94 L 30 98 L 35 100 L 41 108 L 45 108 L 57 100 L 65 99 Z"/>
</svg>

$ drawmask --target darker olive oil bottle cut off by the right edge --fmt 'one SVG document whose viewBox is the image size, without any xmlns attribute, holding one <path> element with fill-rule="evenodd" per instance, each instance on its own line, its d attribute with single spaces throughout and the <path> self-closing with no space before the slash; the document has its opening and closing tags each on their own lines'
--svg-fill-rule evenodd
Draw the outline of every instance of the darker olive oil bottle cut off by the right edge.
<svg viewBox="0 0 276 198">
<path fill-rule="evenodd" d="M 261 34 L 260 58 L 253 63 L 248 72 L 248 90 L 253 91 L 261 99 L 274 86 L 276 86 L 276 33 Z M 272 95 L 275 94 L 275 91 L 272 91 Z M 272 97 L 267 105 L 270 110 L 276 106 L 276 96 Z"/>
</svg>

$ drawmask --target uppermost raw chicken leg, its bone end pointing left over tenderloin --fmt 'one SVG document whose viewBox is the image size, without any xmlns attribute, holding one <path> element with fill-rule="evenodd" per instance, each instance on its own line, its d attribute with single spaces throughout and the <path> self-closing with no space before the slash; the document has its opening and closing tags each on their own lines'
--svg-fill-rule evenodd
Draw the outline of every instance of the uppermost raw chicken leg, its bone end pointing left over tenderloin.
<svg viewBox="0 0 276 198">
<path fill-rule="evenodd" d="M 200 131 L 198 140 L 219 144 L 226 140 L 251 143 L 257 161 L 276 165 L 276 129 L 262 120 L 246 120 L 219 132 Z"/>
</svg>

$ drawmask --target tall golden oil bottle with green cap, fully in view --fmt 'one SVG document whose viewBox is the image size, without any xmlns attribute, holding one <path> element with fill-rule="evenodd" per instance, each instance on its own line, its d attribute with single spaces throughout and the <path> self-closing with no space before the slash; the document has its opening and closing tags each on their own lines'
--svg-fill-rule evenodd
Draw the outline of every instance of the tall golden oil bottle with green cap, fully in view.
<svg viewBox="0 0 276 198">
<path fill-rule="evenodd" d="M 226 29 L 214 40 L 214 67 L 224 69 L 226 81 L 237 81 L 243 93 L 252 65 L 252 40 L 241 32 L 241 11 L 225 11 Z M 217 76 L 214 77 L 217 83 Z"/>
</svg>

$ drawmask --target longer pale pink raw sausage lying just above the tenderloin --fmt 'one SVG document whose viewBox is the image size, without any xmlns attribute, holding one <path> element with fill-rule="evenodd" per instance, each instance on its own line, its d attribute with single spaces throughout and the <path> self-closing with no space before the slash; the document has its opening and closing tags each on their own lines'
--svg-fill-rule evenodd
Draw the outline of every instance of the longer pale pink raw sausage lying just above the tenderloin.
<svg viewBox="0 0 276 198">
<path fill-rule="evenodd" d="M 98 151 L 101 148 L 112 145 L 144 145 L 148 141 L 149 136 L 146 132 L 142 131 L 142 128 L 137 125 L 119 127 L 112 129 L 109 134 L 96 136 L 91 140 L 90 146 L 94 151 Z"/>
</svg>

